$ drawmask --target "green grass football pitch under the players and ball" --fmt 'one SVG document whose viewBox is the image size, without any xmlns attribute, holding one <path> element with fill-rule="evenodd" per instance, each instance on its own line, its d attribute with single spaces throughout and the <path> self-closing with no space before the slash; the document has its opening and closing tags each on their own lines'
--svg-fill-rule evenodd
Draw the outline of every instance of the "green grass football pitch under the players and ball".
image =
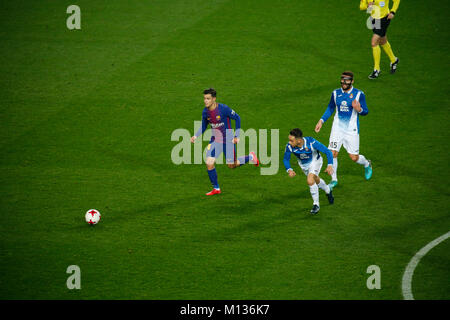
<svg viewBox="0 0 450 320">
<path fill-rule="evenodd" d="M 81 30 L 66 27 L 71 4 Z M 388 31 L 398 72 L 382 51 L 371 81 L 358 1 L 2 2 L 0 298 L 402 299 L 410 259 L 450 229 L 449 9 L 402 1 Z M 314 126 L 347 69 L 367 97 L 374 175 L 342 149 L 335 204 L 321 193 L 311 216 L 282 153 L 294 127 L 328 144 L 331 120 Z M 243 129 L 279 129 L 280 169 L 218 165 L 210 198 L 205 165 L 170 155 L 211 86 Z M 415 298 L 450 299 L 449 252 L 421 260 Z M 370 265 L 381 289 L 366 286 Z"/>
</svg>

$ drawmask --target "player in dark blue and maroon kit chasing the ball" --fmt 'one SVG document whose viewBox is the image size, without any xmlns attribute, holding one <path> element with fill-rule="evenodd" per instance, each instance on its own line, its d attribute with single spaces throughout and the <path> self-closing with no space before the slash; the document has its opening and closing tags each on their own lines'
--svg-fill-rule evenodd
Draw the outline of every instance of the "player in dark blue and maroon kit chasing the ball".
<svg viewBox="0 0 450 320">
<path fill-rule="evenodd" d="M 203 91 L 205 108 L 202 113 L 202 127 L 191 138 L 191 142 L 194 143 L 197 137 L 205 132 L 208 124 L 211 125 L 212 136 L 206 151 L 206 168 L 213 189 L 206 194 L 207 196 L 221 193 L 214 163 L 216 162 L 216 158 L 220 156 L 222 152 L 225 155 L 228 168 L 234 169 L 249 161 L 255 166 L 259 166 L 259 160 L 254 152 L 236 158 L 236 144 L 239 142 L 241 117 L 227 105 L 217 103 L 216 95 L 216 90 L 213 88 Z M 234 135 L 230 119 L 236 121 L 236 133 Z"/>
</svg>

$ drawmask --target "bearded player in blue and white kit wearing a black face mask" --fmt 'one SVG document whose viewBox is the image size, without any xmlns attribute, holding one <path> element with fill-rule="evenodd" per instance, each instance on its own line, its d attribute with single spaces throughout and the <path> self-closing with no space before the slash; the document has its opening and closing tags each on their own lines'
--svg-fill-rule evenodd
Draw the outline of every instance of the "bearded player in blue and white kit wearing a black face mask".
<svg viewBox="0 0 450 320">
<path fill-rule="evenodd" d="M 328 148 L 333 152 L 334 174 L 331 177 L 330 187 L 333 189 L 337 185 L 337 157 L 341 146 L 347 150 L 350 158 L 364 166 L 366 180 L 372 177 L 372 162 L 359 154 L 359 116 L 369 113 L 364 92 L 353 87 L 353 73 L 345 71 L 341 75 L 341 88 L 336 89 L 331 94 L 328 108 L 316 125 L 315 131 L 319 132 L 322 125 L 333 114 L 333 126 L 330 134 L 330 145 Z"/>
</svg>

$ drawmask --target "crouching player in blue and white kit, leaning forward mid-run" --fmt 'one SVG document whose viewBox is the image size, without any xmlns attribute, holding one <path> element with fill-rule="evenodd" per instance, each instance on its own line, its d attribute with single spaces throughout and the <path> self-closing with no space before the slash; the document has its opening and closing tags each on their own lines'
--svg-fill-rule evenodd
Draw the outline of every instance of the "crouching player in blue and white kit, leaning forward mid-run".
<svg viewBox="0 0 450 320">
<path fill-rule="evenodd" d="M 322 157 L 320 152 L 325 153 L 328 165 L 325 170 L 329 175 L 333 174 L 333 154 L 319 141 L 312 137 L 303 137 L 303 133 L 299 128 L 292 129 L 289 133 L 289 142 L 284 152 L 283 163 L 289 177 L 296 176 L 295 171 L 291 168 L 291 154 L 297 157 L 298 165 L 302 168 L 306 175 L 306 182 L 309 185 L 309 191 L 313 198 L 313 207 L 311 214 L 316 214 L 320 210 L 319 204 L 319 188 L 325 191 L 330 204 L 334 203 L 334 197 L 331 188 L 319 177 L 322 168 Z"/>
</svg>

